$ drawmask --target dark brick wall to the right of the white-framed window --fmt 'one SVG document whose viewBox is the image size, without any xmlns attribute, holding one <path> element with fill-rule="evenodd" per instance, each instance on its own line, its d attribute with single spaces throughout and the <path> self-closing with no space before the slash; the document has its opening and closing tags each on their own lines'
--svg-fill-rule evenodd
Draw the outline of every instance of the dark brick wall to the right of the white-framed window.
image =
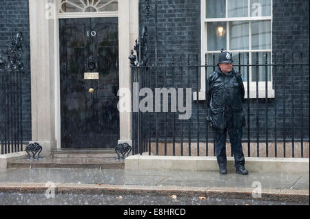
<svg viewBox="0 0 310 219">
<path fill-rule="evenodd" d="M 309 1 L 273 0 L 272 28 L 272 48 L 273 53 L 277 54 L 276 61 L 283 59 L 283 54 L 285 54 L 285 58 L 290 62 L 300 63 L 302 53 L 302 61 L 309 63 Z M 274 56 L 273 59 L 275 59 Z M 278 97 L 276 103 L 279 108 L 283 108 L 284 103 L 287 107 L 285 108 L 286 119 L 283 119 L 283 109 L 279 111 L 279 117 L 282 119 L 278 124 L 283 126 L 283 121 L 285 121 L 290 127 L 287 137 L 291 137 L 292 128 L 295 128 L 296 135 L 300 137 L 301 113 L 303 112 L 304 135 L 309 139 L 309 65 L 304 66 L 303 70 L 302 78 L 300 67 L 291 69 L 287 66 L 285 69 L 277 69 L 275 82 L 278 86 Z M 291 117 L 292 94 L 295 119 Z"/>
</svg>

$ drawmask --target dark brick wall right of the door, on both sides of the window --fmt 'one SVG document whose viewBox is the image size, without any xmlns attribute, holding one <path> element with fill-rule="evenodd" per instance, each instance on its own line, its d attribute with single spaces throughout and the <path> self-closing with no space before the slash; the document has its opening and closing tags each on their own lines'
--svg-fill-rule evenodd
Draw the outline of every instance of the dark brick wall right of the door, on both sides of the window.
<svg viewBox="0 0 310 219">
<path fill-rule="evenodd" d="M 154 2 L 154 1 L 153 1 Z M 174 64 L 178 65 L 187 62 L 187 56 L 190 57 L 191 64 L 196 64 L 196 56 L 200 62 L 200 1 L 194 0 L 157 0 L 158 3 L 158 65 L 172 65 L 172 56 L 174 56 Z M 149 60 L 150 65 L 154 65 L 154 11 L 149 14 L 149 20 L 145 18 L 145 5 L 141 7 L 140 27 L 147 25 L 149 34 Z M 300 16 L 302 14 L 302 16 Z M 291 54 L 294 53 L 294 61 L 300 60 L 300 53 L 303 53 L 303 62 L 309 63 L 309 1 L 273 1 L 273 32 L 272 32 L 272 47 L 273 54 L 276 56 L 276 61 L 282 61 L 282 53 L 285 52 L 285 59 L 291 63 Z M 281 58 L 280 55 L 281 54 Z M 274 57 L 273 57 L 274 60 Z M 298 62 L 299 63 L 299 62 Z M 293 69 L 288 65 L 276 69 L 276 99 L 268 99 L 265 104 L 265 99 L 249 100 L 250 102 L 250 139 L 256 141 L 257 124 L 256 116 L 259 117 L 260 140 L 264 140 L 266 132 L 268 138 L 273 140 L 275 137 L 275 106 L 277 107 L 277 139 L 281 141 L 285 136 L 288 141 L 291 141 L 292 131 L 294 131 L 296 141 L 301 137 L 303 130 L 304 139 L 309 139 L 309 66 L 304 66 L 304 78 L 301 78 L 300 66 Z M 168 68 L 165 78 L 166 87 L 180 86 L 180 77 L 183 74 L 183 84 L 190 84 L 193 92 L 196 91 L 196 69 Z M 189 81 L 188 81 L 189 74 Z M 163 68 L 159 68 L 157 72 L 151 71 L 147 78 L 151 81 L 151 87 L 155 87 L 156 77 L 158 76 L 158 87 L 163 87 L 165 72 Z M 291 81 L 293 78 L 292 86 Z M 175 78 L 173 81 L 172 78 Z M 200 86 L 200 83 L 199 83 Z M 274 86 L 274 84 L 273 84 Z M 188 86 L 186 86 L 188 87 Z M 303 89 L 303 101 L 301 100 L 301 89 Z M 295 119 L 291 116 L 291 94 L 293 93 Z M 285 102 L 285 115 L 283 113 L 283 103 Z M 303 109 L 301 108 L 303 102 Z M 191 129 L 192 139 L 198 136 L 198 120 L 197 120 L 197 102 L 193 102 L 192 118 L 183 121 L 183 137 L 188 137 L 189 126 Z M 276 104 L 276 105 L 275 105 Z M 205 102 L 199 102 L 199 135 L 200 141 L 205 140 Z M 244 104 L 245 117 L 247 118 L 247 104 Z M 268 117 L 266 119 L 266 111 Z M 303 111 L 303 126 L 301 121 L 301 112 Z M 151 114 L 151 133 L 155 137 L 155 113 Z M 165 130 L 167 137 L 173 136 L 173 114 L 167 113 L 167 123 L 165 124 L 165 114 L 158 113 L 158 130 L 159 137 L 163 139 Z M 267 126 L 266 126 L 267 121 Z M 165 129 L 166 127 L 166 129 Z M 267 127 L 267 129 L 266 129 Z M 182 133 L 181 122 L 175 117 L 175 136 L 180 137 Z M 209 132 L 209 137 L 213 135 Z M 247 140 L 247 126 L 244 128 L 243 139 Z"/>
</svg>

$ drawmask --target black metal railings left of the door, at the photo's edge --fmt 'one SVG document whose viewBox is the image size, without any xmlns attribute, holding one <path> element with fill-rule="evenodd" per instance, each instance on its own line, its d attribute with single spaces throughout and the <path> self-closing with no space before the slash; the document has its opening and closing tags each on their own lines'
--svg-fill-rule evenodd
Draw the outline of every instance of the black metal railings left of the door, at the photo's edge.
<svg viewBox="0 0 310 219">
<path fill-rule="evenodd" d="M 0 144 L 1 154 L 23 150 L 22 74 L 23 35 L 17 33 L 0 53 Z"/>
</svg>

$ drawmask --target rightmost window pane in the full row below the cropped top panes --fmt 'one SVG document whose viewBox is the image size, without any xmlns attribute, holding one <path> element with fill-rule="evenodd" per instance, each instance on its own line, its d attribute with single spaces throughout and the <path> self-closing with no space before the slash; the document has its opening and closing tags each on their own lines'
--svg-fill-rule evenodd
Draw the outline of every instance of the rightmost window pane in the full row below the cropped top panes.
<svg viewBox="0 0 310 219">
<path fill-rule="evenodd" d="M 252 21 L 252 49 L 271 49 L 271 21 Z"/>
</svg>

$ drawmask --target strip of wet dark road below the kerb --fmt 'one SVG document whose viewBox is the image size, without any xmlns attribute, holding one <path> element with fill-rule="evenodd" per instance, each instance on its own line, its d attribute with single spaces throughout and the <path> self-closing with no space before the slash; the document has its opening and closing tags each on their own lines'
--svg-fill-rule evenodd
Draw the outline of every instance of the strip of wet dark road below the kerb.
<svg viewBox="0 0 310 219">
<path fill-rule="evenodd" d="M 224 198 L 169 196 L 115 196 L 106 194 L 45 194 L 0 193 L 0 205 L 308 205 L 302 203 L 271 202 L 264 200 L 238 200 Z"/>
</svg>

